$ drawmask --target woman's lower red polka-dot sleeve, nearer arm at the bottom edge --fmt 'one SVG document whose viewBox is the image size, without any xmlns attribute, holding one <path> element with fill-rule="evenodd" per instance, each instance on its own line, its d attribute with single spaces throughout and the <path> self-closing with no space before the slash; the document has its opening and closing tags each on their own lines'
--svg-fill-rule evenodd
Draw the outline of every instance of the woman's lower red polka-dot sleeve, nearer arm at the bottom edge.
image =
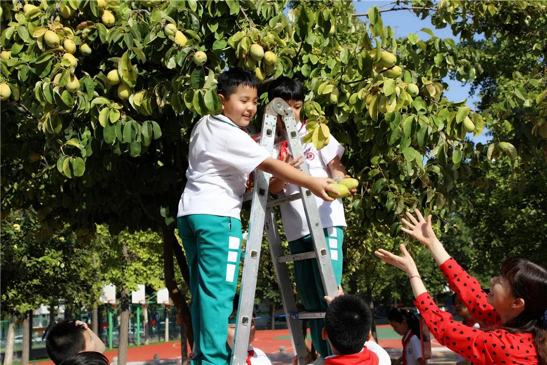
<svg viewBox="0 0 547 365">
<path fill-rule="evenodd" d="M 529 333 L 509 333 L 501 329 L 481 331 L 454 321 L 442 311 L 429 294 L 423 293 L 414 302 L 429 331 L 456 354 L 475 364 L 537 365 L 538 354 Z"/>
</svg>

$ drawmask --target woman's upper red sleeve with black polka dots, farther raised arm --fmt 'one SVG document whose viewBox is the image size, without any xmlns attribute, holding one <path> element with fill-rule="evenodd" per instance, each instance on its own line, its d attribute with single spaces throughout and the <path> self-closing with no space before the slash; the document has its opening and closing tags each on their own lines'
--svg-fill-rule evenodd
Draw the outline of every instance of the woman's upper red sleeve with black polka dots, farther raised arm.
<svg viewBox="0 0 547 365">
<path fill-rule="evenodd" d="M 482 291 L 479 282 L 470 276 L 455 259 L 450 258 L 439 266 L 453 292 L 469 309 L 475 320 L 487 326 L 499 325 L 499 313 L 486 302 L 486 293 Z"/>
</svg>

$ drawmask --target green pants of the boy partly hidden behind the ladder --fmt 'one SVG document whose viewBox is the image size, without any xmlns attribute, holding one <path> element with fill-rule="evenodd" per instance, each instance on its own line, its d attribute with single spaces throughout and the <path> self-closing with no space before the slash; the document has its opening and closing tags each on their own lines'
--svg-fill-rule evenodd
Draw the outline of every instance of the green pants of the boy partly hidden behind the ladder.
<svg viewBox="0 0 547 365">
<path fill-rule="evenodd" d="M 334 276 L 336 284 L 340 285 L 342 280 L 342 243 L 344 243 L 344 230 L 342 227 L 331 227 L 331 235 L 329 236 L 328 228 L 324 228 L 325 239 L 330 256 L 330 262 L 333 264 Z M 332 231 L 334 230 L 334 233 Z M 303 253 L 313 251 L 313 241 L 311 235 L 299 238 L 298 240 L 289 242 L 290 253 Z M 317 260 L 307 259 L 294 262 L 294 279 L 296 281 L 296 289 L 300 294 L 300 300 L 304 304 L 307 311 L 325 311 L 327 310 L 327 302 L 323 298 L 325 291 L 319 275 Z M 315 285 L 314 285 L 315 283 Z M 321 337 L 321 331 L 325 326 L 323 318 L 315 318 L 308 321 L 310 326 L 311 340 L 313 346 L 319 354 L 325 358 L 333 355 L 327 341 Z"/>
</svg>

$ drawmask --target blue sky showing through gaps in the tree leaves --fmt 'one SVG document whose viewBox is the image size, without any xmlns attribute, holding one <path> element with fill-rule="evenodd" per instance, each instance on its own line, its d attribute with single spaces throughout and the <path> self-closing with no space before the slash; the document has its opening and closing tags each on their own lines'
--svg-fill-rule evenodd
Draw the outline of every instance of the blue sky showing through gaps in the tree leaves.
<svg viewBox="0 0 547 365">
<path fill-rule="evenodd" d="M 391 5 L 388 5 L 391 4 Z M 393 7 L 393 1 L 365 1 L 358 0 L 353 1 L 353 5 L 356 9 L 356 13 L 366 13 L 371 7 L 376 5 L 380 9 L 389 9 Z M 391 26 L 395 31 L 396 37 L 406 37 L 409 33 L 416 33 L 422 39 L 428 39 L 430 36 L 425 32 L 421 32 L 422 28 L 429 28 L 433 33 L 440 38 L 452 38 L 456 43 L 459 42 L 459 37 L 455 37 L 452 34 L 450 27 L 445 27 L 442 29 L 435 29 L 435 27 L 429 21 L 429 18 L 421 20 L 414 13 L 411 13 L 410 10 L 399 10 L 399 11 L 387 11 L 382 13 L 382 22 L 384 26 Z M 366 17 L 363 17 L 363 21 L 367 21 Z M 482 38 L 482 34 L 478 35 L 477 38 Z M 471 108 L 474 107 L 474 103 L 478 101 L 476 95 L 469 95 L 470 85 L 463 85 L 457 80 L 451 80 L 449 77 L 446 77 L 444 81 L 449 85 L 449 88 L 445 90 L 445 95 L 447 99 L 451 101 L 461 101 L 467 98 L 467 105 Z M 486 143 L 488 137 L 485 136 L 485 132 L 482 132 L 481 135 L 473 137 L 474 142 Z"/>
</svg>

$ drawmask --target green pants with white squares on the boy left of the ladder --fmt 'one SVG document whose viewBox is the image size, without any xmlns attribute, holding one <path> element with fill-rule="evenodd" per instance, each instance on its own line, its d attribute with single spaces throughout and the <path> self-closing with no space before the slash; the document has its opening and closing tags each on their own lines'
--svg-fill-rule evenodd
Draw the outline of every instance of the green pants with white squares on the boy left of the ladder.
<svg viewBox="0 0 547 365">
<path fill-rule="evenodd" d="M 232 217 L 177 218 L 190 269 L 194 355 L 192 365 L 229 364 L 228 317 L 232 313 L 241 254 L 241 221 Z"/>
</svg>

